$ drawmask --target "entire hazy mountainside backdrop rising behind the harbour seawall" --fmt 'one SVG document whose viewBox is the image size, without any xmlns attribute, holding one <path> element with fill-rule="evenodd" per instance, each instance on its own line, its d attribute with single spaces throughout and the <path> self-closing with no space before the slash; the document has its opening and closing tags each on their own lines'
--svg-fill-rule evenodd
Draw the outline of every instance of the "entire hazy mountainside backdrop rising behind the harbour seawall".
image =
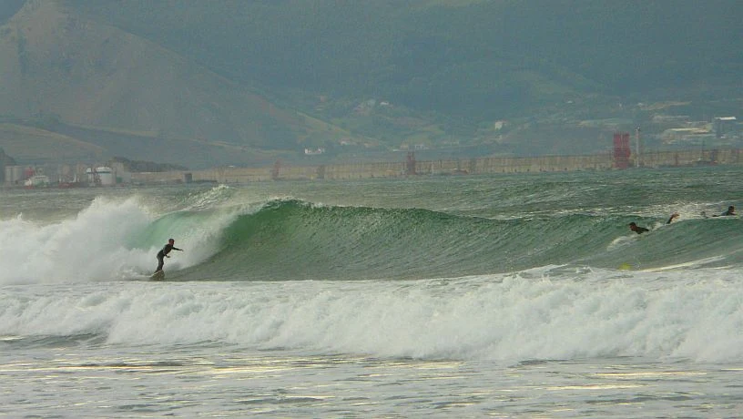
<svg viewBox="0 0 743 419">
<path fill-rule="evenodd" d="M 8 0 L 0 118 L 103 156 L 194 168 L 297 159 L 304 148 L 592 152 L 607 147 L 604 131 L 650 118 L 636 102 L 683 99 L 692 118 L 727 112 L 718 98 L 743 96 L 739 9 L 731 0 Z M 580 123 L 601 118 L 626 123 Z"/>
</svg>

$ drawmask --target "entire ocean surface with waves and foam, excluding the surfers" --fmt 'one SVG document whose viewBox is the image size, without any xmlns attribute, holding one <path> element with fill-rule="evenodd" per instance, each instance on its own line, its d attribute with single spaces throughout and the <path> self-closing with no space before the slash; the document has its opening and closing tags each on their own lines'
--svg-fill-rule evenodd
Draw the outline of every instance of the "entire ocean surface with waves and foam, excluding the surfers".
<svg viewBox="0 0 743 419">
<path fill-rule="evenodd" d="M 0 416 L 740 417 L 742 178 L 3 189 Z"/>
</svg>

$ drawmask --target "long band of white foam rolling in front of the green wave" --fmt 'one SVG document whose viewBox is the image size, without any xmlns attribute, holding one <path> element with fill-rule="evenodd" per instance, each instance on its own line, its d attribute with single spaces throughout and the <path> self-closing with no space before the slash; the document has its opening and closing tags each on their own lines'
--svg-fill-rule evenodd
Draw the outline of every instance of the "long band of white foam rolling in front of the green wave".
<svg viewBox="0 0 743 419">
<path fill-rule="evenodd" d="M 220 342 L 505 362 L 615 356 L 743 361 L 738 272 L 539 275 L 6 290 L 0 335 L 103 333 L 117 345 Z"/>
</svg>

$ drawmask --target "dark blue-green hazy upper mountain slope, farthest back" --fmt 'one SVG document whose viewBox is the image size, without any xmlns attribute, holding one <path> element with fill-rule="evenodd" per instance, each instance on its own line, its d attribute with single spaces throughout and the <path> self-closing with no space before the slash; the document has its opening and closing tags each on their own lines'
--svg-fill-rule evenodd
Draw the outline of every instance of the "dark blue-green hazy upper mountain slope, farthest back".
<svg viewBox="0 0 743 419">
<path fill-rule="evenodd" d="M 274 92 L 380 97 L 475 119 L 565 97 L 738 86 L 743 66 L 736 0 L 66 4 Z"/>
</svg>

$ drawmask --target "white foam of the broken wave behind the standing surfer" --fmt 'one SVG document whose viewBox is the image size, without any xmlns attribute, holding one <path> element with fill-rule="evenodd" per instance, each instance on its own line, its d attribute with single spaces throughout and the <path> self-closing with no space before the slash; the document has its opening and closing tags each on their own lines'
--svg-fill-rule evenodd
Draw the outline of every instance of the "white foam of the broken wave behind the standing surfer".
<svg viewBox="0 0 743 419">
<path fill-rule="evenodd" d="M 148 228 L 156 216 L 136 197 L 97 198 L 75 218 L 52 223 L 24 220 L 19 215 L 0 220 L 0 284 L 37 282 L 111 281 L 142 276 L 157 266 L 161 244 L 132 248 L 131 238 Z M 219 222 L 224 222 L 224 218 Z M 193 226 L 191 237 L 178 247 L 193 245 L 190 253 L 178 252 L 173 268 L 188 266 L 208 255 L 198 240 L 207 234 Z M 219 230 L 217 230 L 219 232 Z M 163 243 L 167 238 L 163 238 Z"/>
</svg>

